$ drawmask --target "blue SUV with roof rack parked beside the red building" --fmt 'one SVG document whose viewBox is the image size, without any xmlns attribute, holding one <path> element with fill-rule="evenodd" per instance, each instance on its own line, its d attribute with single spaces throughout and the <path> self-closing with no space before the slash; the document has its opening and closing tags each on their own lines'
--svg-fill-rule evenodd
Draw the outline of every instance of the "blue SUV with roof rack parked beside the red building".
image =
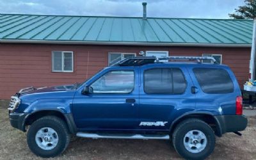
<svg viewBox="0 0 256 160">
<path fill-rule="evenodd" d="M 214 61 L 127 58 L 84 83 L 24 88 L 11 98 L 10 124 L 28 130 L 28 147 L 41 157 L 58 156 L 76 134 L 172 140 L 185 159 L 205 159 L 215 136 L 241 135 L 247 125 L 236 77 Z"/>
</svg>

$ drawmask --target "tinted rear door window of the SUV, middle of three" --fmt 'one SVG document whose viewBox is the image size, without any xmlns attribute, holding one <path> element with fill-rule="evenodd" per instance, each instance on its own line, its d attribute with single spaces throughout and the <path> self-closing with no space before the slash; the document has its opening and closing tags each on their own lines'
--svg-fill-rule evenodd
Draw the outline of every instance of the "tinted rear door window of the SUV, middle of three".
<svg viewBox="0 0 256 160">
<path fill-rule="evenodd" d="M 154 68 L 144 71 L 144 92 L 152 94 L 184 93 L 186 80 L 179 68 Z"/>
</svg>

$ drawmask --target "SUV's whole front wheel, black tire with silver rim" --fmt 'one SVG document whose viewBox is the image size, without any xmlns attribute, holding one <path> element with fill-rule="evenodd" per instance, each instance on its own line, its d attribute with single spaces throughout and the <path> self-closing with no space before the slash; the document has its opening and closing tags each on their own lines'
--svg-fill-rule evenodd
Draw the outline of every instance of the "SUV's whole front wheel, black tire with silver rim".
<svg viewBox="0 0 256 160">
<path fill-rule="evenodd" d="M 55 157 L 67 148 L 70 141 L 67 125 L 56 116 L 36 120 L 27 134 L 28 147 L 40 157 Z"/>
</svg>

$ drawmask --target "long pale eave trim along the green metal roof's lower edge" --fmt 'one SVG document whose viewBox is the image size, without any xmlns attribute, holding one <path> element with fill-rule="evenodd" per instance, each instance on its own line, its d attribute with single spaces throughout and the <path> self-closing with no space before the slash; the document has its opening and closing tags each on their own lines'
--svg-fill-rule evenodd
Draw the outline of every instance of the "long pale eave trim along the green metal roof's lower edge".
<svg viewBox="0 0 256 160">
<path fill-rule="evenodd" d="M 186 47 L 252 47 L 252 44 L 204 44 L 204 43 L 170 43 L 170 42 L 108 42 L 75 40 L 17 40 L 0 39 L 0 43 L 17 44 L 87 44 L 87 45 L 143 45 L 143 46 L 186 46 Z"/>
</svg>

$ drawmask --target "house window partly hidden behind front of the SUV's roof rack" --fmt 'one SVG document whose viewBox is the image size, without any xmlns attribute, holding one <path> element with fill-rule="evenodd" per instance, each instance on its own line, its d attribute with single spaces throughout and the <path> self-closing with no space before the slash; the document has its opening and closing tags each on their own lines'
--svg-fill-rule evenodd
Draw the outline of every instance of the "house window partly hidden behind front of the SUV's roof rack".
<svg viewBox="0 0 256 160">
<path fill-rule="evenodd" d="M 130 58 L 136 56 L 136 53 L 122 53 L 122 52 L 109 52 L 108 65 L 113 65 L 124 58 Z"/>
</svg>

